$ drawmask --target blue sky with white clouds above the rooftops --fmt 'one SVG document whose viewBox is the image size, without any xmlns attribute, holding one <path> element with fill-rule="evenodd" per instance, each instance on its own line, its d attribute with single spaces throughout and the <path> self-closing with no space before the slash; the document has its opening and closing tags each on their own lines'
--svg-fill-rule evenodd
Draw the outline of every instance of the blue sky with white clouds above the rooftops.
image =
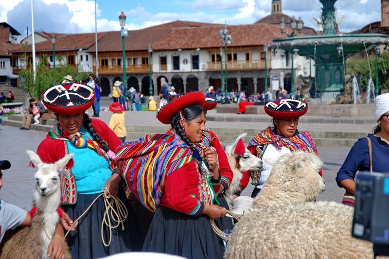
<svg viewBox="0 0 389 259">
<path fill-rule="evenodd" d="M 56 33 L 94 32 L 94 0 L 33 0 L 35 31 Z M 338 0 L 337 17 L 345 16 L 340 31 L 350 32 L 381 19 L 380 0 Z M 319 0 L 283 0 L 283 13 L 302 17 L 306 26 L 318 29 L 311 18 L 320 16 Z M 130 30 L 174 21 L 249 24 L 270 14 L 271 0 L 97 0 L 97 30 L 120 30 L 120 11 Z M 22 36 L 31 33 L 31 0 L 0 0 L 0 21 Z"/>
</svg>

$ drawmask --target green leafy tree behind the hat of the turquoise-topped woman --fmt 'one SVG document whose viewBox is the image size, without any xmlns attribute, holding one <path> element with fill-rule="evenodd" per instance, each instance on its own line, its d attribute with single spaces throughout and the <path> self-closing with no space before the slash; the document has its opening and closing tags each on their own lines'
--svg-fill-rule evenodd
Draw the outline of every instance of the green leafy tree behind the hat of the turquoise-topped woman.
<svg viewBox="0 0 389 259">
<path fill-rule="evenodd" d="M 65 75 L 72 75 L 74 80 L 81 81 L 88 78 L 88 72 L 79 72 L 78 67 L 68 65 L 60 68 L 51 69 L 47 65 L 47 56 L 44 55 L 36 67 L 36 78 L 32 69 L 21 69 L 19 73 L 20 87 L 24 88 L 30 98 L 40 100 L 43 90 L 50 87 L 51 84 L 59 85 L 62 83 Z"/>
</svg>

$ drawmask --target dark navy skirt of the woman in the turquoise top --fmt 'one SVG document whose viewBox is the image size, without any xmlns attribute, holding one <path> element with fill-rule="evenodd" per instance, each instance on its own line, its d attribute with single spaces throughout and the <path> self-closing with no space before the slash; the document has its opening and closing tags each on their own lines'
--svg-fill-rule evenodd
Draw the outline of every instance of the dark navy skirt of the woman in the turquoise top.
<svg viewBox="0 0 389 259">
<path fill-rule="evenodd" d="M 71 256 L 73 259 L 101 258 L 109 255 L 141 251 L 143 241 L 141 240 L 141 231 L 139 229 L 138 219 L 124 195 L 124 191 L 119 188 L 118 197 L 124 202 L 128 210 L 127 219 L 124 221 L 124 230 L 122 225 L 112 229 L 112 239 L 108 247 L 103 244 L 101 239 L 101 224 L 105 211 L 104 197 L 100 197 L 89 209 L 78 223 L 74 231 L 69 232 L 66 240 L 68 242 Z M 100 195 L 97 194 L 77 194 L 77 203 L 75 205 L 63 206 L 72 220 L 77 219 Z M 116 225 L 112 222 L 112 225 Z M 108 242 L 109 232 L 105 226 L 104 238 Z"/>
</svg>

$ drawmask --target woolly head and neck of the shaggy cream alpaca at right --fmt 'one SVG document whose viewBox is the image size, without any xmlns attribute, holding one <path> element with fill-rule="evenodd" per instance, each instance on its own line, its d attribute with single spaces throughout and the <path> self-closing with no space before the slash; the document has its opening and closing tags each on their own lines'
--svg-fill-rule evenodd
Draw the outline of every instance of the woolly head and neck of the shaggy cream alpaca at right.
<svg viewBox="0 0 389 259">
<path fill-rule="evenodd" d="M 297 151 L 276 161 L 266 161 L 273 169 L 259 196 L 266 194 L 266 199 L 273 196 L 277 204 L 299 203 L 315 201 L 325 190 L 325 180 L 318 173 L 323 163 L 315 154 Z"/>
</svg>

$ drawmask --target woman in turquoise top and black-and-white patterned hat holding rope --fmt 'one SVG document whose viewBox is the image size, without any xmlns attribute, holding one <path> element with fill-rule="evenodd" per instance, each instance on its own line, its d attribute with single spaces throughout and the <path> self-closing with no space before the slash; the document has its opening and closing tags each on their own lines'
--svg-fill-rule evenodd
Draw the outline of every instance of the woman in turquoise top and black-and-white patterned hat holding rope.
<svg viewBox="0 0 389 259">
<path fill-rule="evenodd" d="M 77 228 L 67 236 L 73 258 L 101 258 L 108 255 L 140 250 L 137 222 L 132 208 L 126 202 L 121 188 L 121 175 L 113 160 L 114 151 L 122 142 L 105 122 L 89 119 L 85 111 L 93 104 L 95 93 L 89 86 L 62 84 L 43 91 L 43 102 L 53 111 L 57 124 L 38 146 L 37 154 L 46 163 L 52 163 L 65 154 L 75 153 L 61 173 L 62 207 L 71 219 L 78 218 L 103 192 L 118 196 L 126 203 L 128 216 L 121 226 L 112 228 L 108 246 L 102 241 L 104 197 L 100 196 Z M 111 220 L 112 225 L 116 225 Z M 103 236 L 108 242 L 109 229 Z"/>
</svg>

